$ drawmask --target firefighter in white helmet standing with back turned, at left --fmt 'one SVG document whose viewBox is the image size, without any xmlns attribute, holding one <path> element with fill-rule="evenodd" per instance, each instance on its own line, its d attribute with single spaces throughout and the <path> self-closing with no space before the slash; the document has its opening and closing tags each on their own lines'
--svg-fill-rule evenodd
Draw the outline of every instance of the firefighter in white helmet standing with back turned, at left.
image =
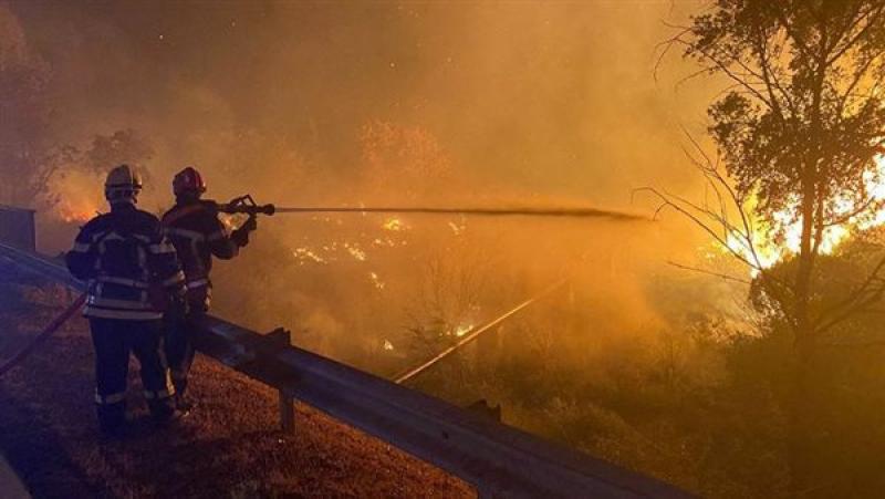
<svg viewBox="0 0 885 499">
<path fill-rule="evenodd" d="M 105 183 L 111 212 L 90 220 L 66 256 L 71 273 L 90 284 L 83 315 L 95 346 L 95 403 L 100 427 L 112 436 L 127 427 L 131 352 L 142 366 L 154 420 L 165 424 L 178 414 L 162 352 L 162 319 L 170 302 L 183 302 L 185 277 L 157 217 L 136 208 L 140 190 L 142 179 L 133 168 L 111 170 Z"/>
</svg>

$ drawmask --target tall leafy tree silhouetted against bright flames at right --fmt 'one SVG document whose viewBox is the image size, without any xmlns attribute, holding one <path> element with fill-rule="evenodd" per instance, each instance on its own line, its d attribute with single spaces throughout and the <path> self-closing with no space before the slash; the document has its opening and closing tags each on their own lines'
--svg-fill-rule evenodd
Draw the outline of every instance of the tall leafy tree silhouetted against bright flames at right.
<svg viewBox="0 0 885 499">
<path fill-rule="evenodd" d="M 875 306 L 885 259 L 837 300 L 821 301 L 813 279 L 827 231 L 883 208 L 885 1 L 718 0 L 664 45 L 729 86 L 709 107 L 718 155 L 693 141 L 689 157 L 712 197 L 694 202 L 655 190 L 750 266 L 773 318 L 792 335 L 792 489 L 814 487 L 818 408 L 812 373 L 822 335 Z M 689 137 L 690 138 L 690 137 Z M 793 263 L 777 272 L 766 248 L 783 252 L 798 227 Z"/>
</svg>

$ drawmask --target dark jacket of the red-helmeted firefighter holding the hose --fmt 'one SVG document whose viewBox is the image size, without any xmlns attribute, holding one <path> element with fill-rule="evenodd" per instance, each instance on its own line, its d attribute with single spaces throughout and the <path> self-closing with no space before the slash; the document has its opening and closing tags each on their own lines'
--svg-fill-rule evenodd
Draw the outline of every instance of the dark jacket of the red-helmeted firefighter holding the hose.
<svg viewBox="0 0 885 499">
<path fill-rule="evenodd" d="M 229 260 L 240 249 L 217 211 L 199 200 L 175 205 L 163 216 L 163 229 L 178 252 L 188 290 L 209 288 L 212 257 Z"/>
</svg>

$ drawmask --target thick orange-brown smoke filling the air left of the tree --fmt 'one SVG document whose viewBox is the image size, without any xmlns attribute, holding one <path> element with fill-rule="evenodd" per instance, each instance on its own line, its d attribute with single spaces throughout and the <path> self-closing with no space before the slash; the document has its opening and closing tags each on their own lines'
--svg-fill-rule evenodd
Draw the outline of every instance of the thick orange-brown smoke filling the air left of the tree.
<svg viewBox="0 0 885 499">
<path fill-rule="evenodd" d="M 636 187 L 694 188 L 675 131 L 708 97 L 655 81 L 662 20 L 680 13 L 644 6 L 3 3 L 2 90 L 24 97 L 3 100 L 0 175 L 18 186 L 3 200 L 42 209 L 50 251 L 105 209 L 102 175 L 122 162 L 147 174 L 157 212 L 186 165 L 221 200 L 642 211 Z M 481 321 L 577 268 L 601 302 L 648 322 L 648 279 L 694 240 L 664 223 L 278 217 L 219 269 L 251 300 L 219 285 L 217 301 L 262 328 L 298 323 L 330 352 L 365 350 L 355 329 L 398 349 L 412 342 L 387 336 L 426 328 L 405 318 Z M 483 285 L 458 306 L 409 299 L 465 272 Z"/>
</svg>

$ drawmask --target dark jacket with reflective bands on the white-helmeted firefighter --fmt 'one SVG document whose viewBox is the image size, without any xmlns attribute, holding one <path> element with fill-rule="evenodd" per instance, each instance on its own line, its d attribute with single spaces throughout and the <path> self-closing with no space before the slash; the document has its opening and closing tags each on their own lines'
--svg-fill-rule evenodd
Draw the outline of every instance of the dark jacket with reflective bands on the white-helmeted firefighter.
<svg viewBox="0 0 885 499">
<path fill-rule="evenodd" d="M 131 204 L 90 220 L 66 256 L 71 273 L 87 281 L 83 315 L 133 321 L 163 318 L 157 293 L 183 293 L 184 273 L 157 217 Z"/>
</svg>

